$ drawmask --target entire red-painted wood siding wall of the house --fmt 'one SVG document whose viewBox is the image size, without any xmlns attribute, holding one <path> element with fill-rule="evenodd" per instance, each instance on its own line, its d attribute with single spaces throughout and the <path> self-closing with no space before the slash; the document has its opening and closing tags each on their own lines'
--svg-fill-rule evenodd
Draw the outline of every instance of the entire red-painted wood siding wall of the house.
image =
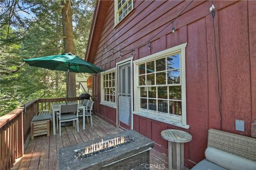
<svg viewBox="0 0 256 170">
<path fill-rule="evenodd" d="M 134 10 L 115 28 L 114 2 L 109 2 L 99 43 L 89 61 L 103 69 L 114 68 L 116 62 L 131 56 L 129 50 L 154 37 L 181 10 L 188 1 L 134 1 Z M 222 95 L 223 131 L 251 135 L 251 122 L 256 119 L 256 2 L 214 1 L 217 9 L 215 28 L 218 66 Z M 186 87 L 187 124 L 183 129 L 134 115 L 134 129 L 156 142 L 155 148 L 167 153 L 167 142 L 160 136 L 167 128 L 189 132 L 193 140 L 185 144 L 185 165 L 193 167 L 204 158 L 209 128 L 220 128 L 218 109 L 217 71 L 214 56 L 211 1 L 194 1 L 174 22 L 151 39 L 148 44 L 133 51 L 137 60 L 167 48 L 187 43 Z M 103 49 L 105 53 L 103 53 Z M 111 54 L 112 48 L 115 49 Z M 100 78 L 95 80 L 98 101 L 95 112 L 116 125 L 116 109 L 100 103 Z M 94 89 L 94 90 L 96 90 Z M 245 120 L 245 132 L 235 130 L 235 119 Z"/>
</svg>

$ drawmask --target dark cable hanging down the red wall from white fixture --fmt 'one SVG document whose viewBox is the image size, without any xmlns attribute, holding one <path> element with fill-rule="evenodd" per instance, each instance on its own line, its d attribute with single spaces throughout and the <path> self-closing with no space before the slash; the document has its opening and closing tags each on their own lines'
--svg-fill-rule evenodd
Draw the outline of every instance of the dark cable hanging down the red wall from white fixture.
<svg viewBox="0 0 256 170">
<path fill-rule="evenodd" d="M 222 111 L 221 111 L 222 96 L 221 96 L 221 89 L 220 89 L 220 75 L 219 75 L 219 66 L 218 66 L 218 53 L 217 53 L 217 45 L 216 45 L 216 30 L 215 30 L 215 23 L 214 23 L 215 7 L 213 5 L 213 0 L 212 0 L 212 6 L 210 7 L 210 12 L 212 14 L 213 38 L 214 38 L 214 55 L 215 55 L 215 66 L 216 66 L 217 81 L 218 81 L 220 130 L 221 130 L 222 129 Z"/>
</svg>

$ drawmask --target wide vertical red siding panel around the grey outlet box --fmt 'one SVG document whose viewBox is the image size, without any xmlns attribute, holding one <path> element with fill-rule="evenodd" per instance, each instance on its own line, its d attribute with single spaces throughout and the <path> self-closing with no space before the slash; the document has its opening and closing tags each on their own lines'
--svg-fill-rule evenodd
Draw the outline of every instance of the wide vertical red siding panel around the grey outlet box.
<svg viewBox="0 0 256 170">
<path fill-rule="evenodd" d="M 235 133 L 235 119 L 242 119 L 247 120 L 243 134 L 250 135 L 252 99 L 247 5 L 247 2 L 238 2 L 219 11 L 219 49 L 223 130 Z M 233 11 L 237 12 L 236 17 L 231 14 Z M 230 29 L 234 26 L 235 29 Z"/>
</svg>

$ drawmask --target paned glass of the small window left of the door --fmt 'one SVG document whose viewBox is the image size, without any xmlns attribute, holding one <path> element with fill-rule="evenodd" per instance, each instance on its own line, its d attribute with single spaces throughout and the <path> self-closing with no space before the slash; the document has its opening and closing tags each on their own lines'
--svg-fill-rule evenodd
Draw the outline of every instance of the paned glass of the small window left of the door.
<svg viewBox="0 0 256 170">
<path fill-rule="evenodd" d="M 103 101 L 115 103 L 115 71 L 103 74 Z"/>
</svg>

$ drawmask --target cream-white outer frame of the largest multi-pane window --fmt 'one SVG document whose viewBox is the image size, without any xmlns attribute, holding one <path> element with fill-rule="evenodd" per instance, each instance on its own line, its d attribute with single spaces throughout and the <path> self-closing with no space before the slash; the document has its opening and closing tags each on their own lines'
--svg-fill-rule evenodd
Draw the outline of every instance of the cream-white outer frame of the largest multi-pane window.
<svg viewBox="0 0 256 170">
<path fill-rule="evenodd" d="M 134 72 L 134 114 L 148 117 L 150 119 L 157 120 L 159 122 L 171 124 L 174 126 L 179 126 L 182 128 L 189 128 L 189 125 L 187 125 L 187 110 L 186 110 L 186 46 L 187 43 L 180 44 L 178 46 L 174 46 L 172 48 L 169 48 L 167 50 L 151 54 L 149 56 L 146 56 L 144 58 L 138 59 L 133 61 L 133 72 Z M 139 93 L 139 64 L 150 62 L 153 60 L 157 60 L 159 58 L 163 58 L 166 55 L 172 55 L 180 53 L 180 84 L 181 85 L 181 102 L 182 102 L 182 117 L 181 120 L 175 119 L 175 115 L 166 115 L 161 114 L 161 112 L 154 112 L 154 111 L 143 111 L 143 109 L 140 109 L 140 93 Z M 159 85 L 161 86 L 161 85 Z M 172 118 L 173 117 L 173 118 Z"/>
</svg>

